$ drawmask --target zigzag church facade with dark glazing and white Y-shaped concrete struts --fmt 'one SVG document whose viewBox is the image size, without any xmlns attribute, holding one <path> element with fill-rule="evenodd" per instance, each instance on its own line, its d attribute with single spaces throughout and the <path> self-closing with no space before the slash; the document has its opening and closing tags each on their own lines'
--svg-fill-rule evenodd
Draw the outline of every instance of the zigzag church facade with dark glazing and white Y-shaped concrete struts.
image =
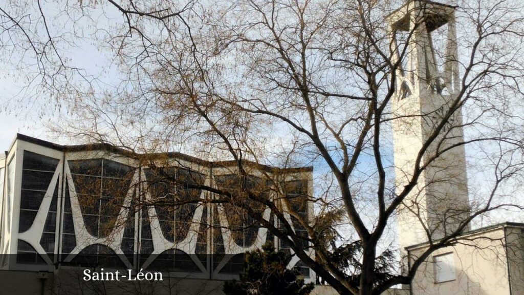
<svg viewBox="0 0 524 295">
<path fill-rule="evenodd" d="M 236 166 L 202 162 L 167 157 L 147 166 L 102 150 L 63 152 L 16 140 L 7 155 L 10 177 L 3 190 L 7 197 L 1 211 L 0 251 L 17 256 L 2 256 L 0 267 L 50 271 L 57 263 L 76 265 L 83 263 L 82 258 L 117 254 L 116 260 L 105 262 L 136 270 L 168 263 L 173 277 L 231 279 L 242 271 L 244 252 L 266 241 L 285 248 L 265 228 L 231 230 L 248 220 L 232 218 L 234 210 L 225 205 L 185 204 L 176 209 L 158 205 L 159 198 L 217 198 L 190 188 L 191 184 L 239 185 L 234 179 Z M 173 187 L 164 179 L 151 178 L 168 170 L 186 185 Z M 268 175 L 254 169 L 249 174 L 252 182 Z M 311 171 L 280 174 L 283 189 L 291 187 L 287 195 L 311 195 Z M 299 214 L 308 218 L 312 205 L 305 202 Z M 283 206 L 294 206 L 291 203 Z M 270 220 L 269 209 L 262 210 Z M 300 226 L 287 217 L 299 233 Z M 314 273 L 300 263 L 294 257 L 289 267 L 297 267 L 308 281 L 314 281 Z"/>
</svg>

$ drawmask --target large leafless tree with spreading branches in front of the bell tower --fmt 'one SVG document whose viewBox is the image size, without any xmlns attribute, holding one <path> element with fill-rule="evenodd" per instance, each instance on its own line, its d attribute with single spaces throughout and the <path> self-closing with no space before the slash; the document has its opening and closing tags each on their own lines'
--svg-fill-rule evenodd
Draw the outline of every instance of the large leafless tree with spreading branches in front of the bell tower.
<svg viewBox="0 0 524 295">
<path fill-rule="evenodd" d="M 239 184 L 194 188 L 267 228 L 337 292 L 408 284 L 472 222 L 521 208 L 509 189 L 522 181 L 522 3 L 109 2 L 125 19 L 106 35 L 123 82 L 64 98 L 74 120 L 55 128 L 152 167 L 141 154 L 230 160 Z M 478 195 L 466 159 L 493 173 Z M 293 209 L 266 165 L 317 167 L 315 193 L 298 196 L 316 218 Z M 262 181 L 247 185 L 253 170 Z M 429 243 L 401 272 L 384 267 L 397 217 Z"/>
</svg>

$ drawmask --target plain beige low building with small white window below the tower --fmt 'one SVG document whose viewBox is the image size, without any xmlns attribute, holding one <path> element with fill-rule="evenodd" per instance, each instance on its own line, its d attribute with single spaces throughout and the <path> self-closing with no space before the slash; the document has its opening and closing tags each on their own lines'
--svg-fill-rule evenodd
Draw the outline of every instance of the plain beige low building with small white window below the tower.
<svg viewBox="0 0 524 295">
<path fill-rule="evenodd" d="M 411 284 L 413 295 L 516 295 L 522 292 L 522 234 L 520 228 L 497 227 L 465 235 L 459 244 L 436 250 L 423 262 Z M 506 244 L 506 240 L 509 241 Z M 506 252 L 508 245 L 509 256 Z M 409 248 L 408 248 L 409 249 Z M 425 250 L 409 249 L 411 263 Z M 453 254 L 455 279 L 435 282 L 435 257 Z M 508 277 L 508 261 L 510 271 Z M 511 288 L 510 292 L 510 281 Z"/>
</svg>

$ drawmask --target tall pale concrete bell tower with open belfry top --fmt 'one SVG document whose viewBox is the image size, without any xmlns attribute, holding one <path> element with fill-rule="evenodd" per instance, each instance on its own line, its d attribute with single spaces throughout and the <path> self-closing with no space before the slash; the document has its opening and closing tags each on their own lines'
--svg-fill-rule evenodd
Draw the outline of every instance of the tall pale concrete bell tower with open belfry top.
<svg viewBox="0 0 524 295">
<path fill-rule="evenodd" d="M 392 61 L 400 60 L 392 102 L 397 193 L 412 179 L 423 149 L 419 163 L 428 165 L 399 209 L 403 249 L 452 233 L 470 206 L 464 146 L 454 147 L 463 142 L 455 7 L 410 0 L 387 22 Z"/>
</svg>

